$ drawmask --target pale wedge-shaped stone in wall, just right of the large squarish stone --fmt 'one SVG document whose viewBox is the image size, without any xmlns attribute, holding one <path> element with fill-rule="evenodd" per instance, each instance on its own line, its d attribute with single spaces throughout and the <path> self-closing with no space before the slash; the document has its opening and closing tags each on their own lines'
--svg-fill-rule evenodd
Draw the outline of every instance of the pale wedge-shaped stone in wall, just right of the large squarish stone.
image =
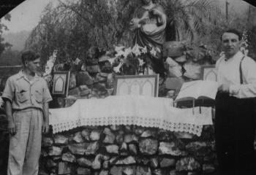
<svg viewBox="0 0 256 175">
<path fill-rule="evenodd" d="M 160 142 L 159 155 L 182 155 L 182 152 L 178 149 L 174 142 Z"/>
</svg>

